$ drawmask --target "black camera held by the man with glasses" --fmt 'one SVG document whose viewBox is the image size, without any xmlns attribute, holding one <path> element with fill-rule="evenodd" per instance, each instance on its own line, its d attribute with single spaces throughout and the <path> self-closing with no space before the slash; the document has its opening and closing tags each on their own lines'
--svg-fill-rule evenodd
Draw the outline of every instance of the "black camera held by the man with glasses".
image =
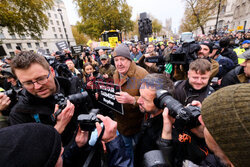
<svg viewBox="0 0 250 167">
<path fill-rule="evenodd" d="M 73 104 L 80 104 L 83 103 L 88 97 L 87 92 L 76 93 L 69 95 L 68 97 L 64 97 L 62 93 L 57 93 L 54 96 L 54 99 L 57 101 L 59 105 L 59 109 L 54 113 L 51 114 L 52 121 L 56 121 L 57 116 L 62 112 L 62 110 L 67 106 L 67 100 L 69 100 Z"/>
</svg>

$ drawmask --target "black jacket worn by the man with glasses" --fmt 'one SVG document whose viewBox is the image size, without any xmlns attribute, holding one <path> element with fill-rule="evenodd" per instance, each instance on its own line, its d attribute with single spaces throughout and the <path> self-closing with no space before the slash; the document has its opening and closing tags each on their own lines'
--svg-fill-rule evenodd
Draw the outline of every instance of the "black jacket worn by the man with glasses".
<svg viewBox="0 0 250 167">
<path fill-rule="evenodd" d="M 74 78 L 71 79 L 71 81 Z M 80 90 L 77 86 L 78 82 L 71 82 L 70 80 L 62 77 L 56 77 L 55 82 L 57 85 L 57 93 L 64 94 L 65 97 L 79 93 Z M 47 98 L 39 98 L 30 94 L 25 89 L 19 95 L 17 104 L 11 109 L 10 123 L 22 124 L 28 122 L 41 122 L 47 125 L 55 125 L 51 120 L 51 114 L 54 113 L 56 100 L 54 96 Z M 77 116 L 81 113 L 87 113 L 92 107 L 91 101 L 86 99 L 85 103 L 75 104 L 75 112 L 69 124 L 66 126 L 64 132 L 61 134 L 63 145 L 69 143 L 77 128 Z M 38 116 L 38 118 L 36 117 Z"/>
</svg>

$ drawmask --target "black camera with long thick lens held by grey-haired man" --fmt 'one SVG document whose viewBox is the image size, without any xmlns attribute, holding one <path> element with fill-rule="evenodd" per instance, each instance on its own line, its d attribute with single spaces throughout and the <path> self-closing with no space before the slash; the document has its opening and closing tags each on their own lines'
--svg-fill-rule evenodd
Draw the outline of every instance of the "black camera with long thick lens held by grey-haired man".
<svg viewBox="0 0 250 167">
<path fill-rule="evenodd" d="M 200 125 L 198 120 L 201 113 L 200 108 L 192 105 L 184 107 L 166 90 L 156 91 L 154 103 L 160 109 L 167 107 L 169 109 L 169 115 L 178 119 L 183 129 L 192 129 Z"/>
</svg>

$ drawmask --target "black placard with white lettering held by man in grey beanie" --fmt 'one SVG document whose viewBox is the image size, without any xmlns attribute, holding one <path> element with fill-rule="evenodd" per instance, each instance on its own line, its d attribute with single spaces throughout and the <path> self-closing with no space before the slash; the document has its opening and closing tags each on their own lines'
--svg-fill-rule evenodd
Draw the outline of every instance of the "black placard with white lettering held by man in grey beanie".
<svg viewBox="0 0 250 167">
<path fill-rule="evenodd" d="M 124 115 L 123 105 L 118 103 L 115 99 L 115 93 L 121 91 L 120 85 L 95 81 L 95 86 L 96 92 L 99 93 L 98 102 Z"/>
</svg>

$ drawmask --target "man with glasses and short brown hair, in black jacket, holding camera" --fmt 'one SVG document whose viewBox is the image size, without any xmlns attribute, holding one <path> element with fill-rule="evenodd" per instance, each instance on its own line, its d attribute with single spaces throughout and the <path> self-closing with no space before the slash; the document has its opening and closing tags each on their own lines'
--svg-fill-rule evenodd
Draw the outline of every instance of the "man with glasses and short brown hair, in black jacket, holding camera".
<svg viewBox="0 0 250 167">
<path fill-rule="evenodd" d="M 62 109 L 57 120 L 53 121 L 51 115 L 55 112 L 55 104 L 58 102 L 54 95 L 62 93 L 65 97 L 79 93 L 72 80 L 55 77 L 46 59 L 32 52 L 21 52 L 15 56 L 11 63 L 11 69 L 23 90 L 19 95 L 17 104 L 11 109 L 10 123 L 21 124 L 28 122 L 44 123 L 54 126 L 61 134 L 63 145 L 67 145 L 76 130 L 76 118 L 80 113 L 87 113 L 92 107 L 90 101 L 74 105 L 69 100 Z"/>
</svg>

